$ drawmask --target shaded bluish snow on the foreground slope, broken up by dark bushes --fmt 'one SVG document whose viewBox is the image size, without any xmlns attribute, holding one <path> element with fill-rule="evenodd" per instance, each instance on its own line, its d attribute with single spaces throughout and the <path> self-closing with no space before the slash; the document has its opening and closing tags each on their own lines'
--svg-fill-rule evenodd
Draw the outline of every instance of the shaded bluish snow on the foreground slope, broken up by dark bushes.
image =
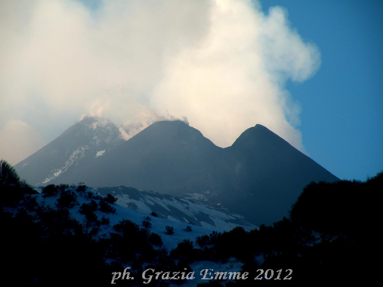
<svg viewBox="0 0 383 287">
<path fill-rule="evenodd" d="M 129 188 L 123 188 L 120 187 L 116 188 L 118 190 L 125 190 L 125 193 L 118 193 L 115 192 L 115 196 L 121 196 L 121 194 L 129 194 Z M 80 214 L 80 207 L 83 204 L 89 204 L 91 201 L 95 201 L 98 205 L 100 205 L 100 200 L 103 198 L 103 196 L 100 196 L 99 192 L 100 190 L 103 192 L 106 192 L 107 189 L 92 189 L 88 188 L 85 192 L 78 192 L 75 191 L 75 188 L 70 188 L 74 193 L 77 195 L 75 200 L 77 201 L 77 204 L 74 205 L 74 207 L 69 208 L 69 214 L 70 217 L 76 219 L 79 221 L 80 224 L 82 224 L 84 227 L 88 226 L 88 221 L 85 215 Z M 41 192 L 43 188 L 35 188 L 36 191 Z M 131 189 L 131 192 L 133 192 L 134 189 Z M 177 205 L 180 203 L 177 203 L 177 199 L 173 198 L 173 200 L 170 200 L 167 196 L 161 196 L 160 194 L 157 194 L 155 192 L 147 192 L 145 194 L 142 192 L 139 194 L 139 196 L 132 196 L 132 198 L 128 197 L 127 195 L 124 197 L 125 200 L 130 198 L 131 203 L 134 202 L 134 204 L 140 205 L 140 201 L 137 198 L 140 198 L 140 200 L 145 199 L 146 201 L 151 201 L 156 202 L 154 205 L 163 205 L 163 207 L 166 209 L 168 206 L 173 206 Z M 151 196 L 149 195 L 150 193 Z M 57 199 L 59 199 L 60 194 L 54 195 L 54 196 L 44 196 L 44 194 L 34 194 L 32 195 L 36 199 L 36 202 L 43 208 L 51 208 L 51 209 L 56 209 L 57 208 Z M 149 199 L 150 198 L 150 199 Z M 121 199 L 120 199 L 121 201 Z M 185 200 L 185 203 L 187 205 L 183 205 L 183 208 L 186 210 L 190 208 L 191 205 L 196 205 L 198 206 L 199 204 L 195 204 L 192 202 L 188 202 Z M 152 202 L 149 203 L 149 205 L 152 205 Z M 131 220 L 137 225 L 139 225 L 140 228 L 143 228 L 143 222 L 142 221 L 149 221 L 151 223 L 150 232 L 156 233 L 161 237 L 162 240 L 162 245 L 161 246 L 153 246 L 155 249 L 159 248 L 166 248 L 167 252 L 169 253 L 172 249 L 177 248 L 178 243 L 182 242 L 183 240 L 190 240 L 193 241 L 194 246 L 198 247 L 196 245 L 196 237 L 202 236 L 202 235 L 210 235 L 213 231 L 223 231 L 221 228 L 211 228 L 211 227 L 203 227 L 203 226 L 196 226 L 196 225 L 191 225 L 185 222 L 180 222 L 180 221 L 174 221 L 174 220 L 169 220 L 169 219 L 164 219 L 160 217 L 155 217 L 152 215 L 147 214 L 146 212 L 141 212 L 138 210 L 133 210 L 128 207 L 121 206 L 119 204 L 111 204 L 111 206 L 115 209 L 114 213 L 105 213 L 102 212 L 101 210 L 96 210 L 94 214 L 97 216 L 99 220 L 101 218 L 105 218 L 109 220 L 107 224 L 102 223 L 100 228 L 98 229 L 97 233 L 92 232 L 93 239 L 98 240 L 98 239 L 103 239 L 103 238 L 109 238 L 111 236 L 111 233 L 115 233 L 116 230 L 113 228 L 114 225 L 120 223 L 122 220 Z M 187 207 L 189 206 L 189 207 Z M 199 206 L 201 208 L 202 212 L 205 210 L 202 206 Z M 197 208 L 198 209 L 198 208 Z M 16 212 L 16 209 L 12 208 L 7 208 L 8 212 Z M 146 210 L 149 211 L 149 210 Z M 214 212 L 212 212 L 214 213 Z M 219 212 L 216 213 L 217 217 L 219 216 L 224 216 L 224 215 L 219 215 Z M 171 226 L 173 227 L 174 233 L 169 235 L 165 232 L 165 227 L 166 226 Z M 94 226 L 93 226 L 94 227 Z M 190 231 L 185 230 L 186 227 L 191 227 Z M 92 226 L 89 227 L 92 229 Z M 226 228 L 225 228 L 226 229 Z M 226 229 L 228 230 L 228 229 Z M 142 264 L 142 270 L 145 270 L 147 268 L 153 268 L 153 265 L 151 264 L 151 267 L 147 267 L 149 263 L 141 263 Z M 183 284 L 185 287 L 195 287 L 198 283 L 203 283 L 208 280 L 203 280 L 201 279 L 202 276 L 200 276 L 200 271 L 206 268 L 209 268 L 211 272 L 238 272 L 241 270 L 241 266 L 243 263 L 241 263 L 239 260 L 235 258 L 229 258 L 228 261 L 199 261 L 198 259 L 190 263 L 191 269 L 195 272 L 195 279 L 193 280 L 186 280 L 186 282 Z M 124 268 L 127 266 L 132 266 L 130 263 L 127 263 L 127 265 L 123 266 Z M 136 266 L 137 267 L 137 266 Z M 158 270 L 160 269 L 161 266 L 158 266 Z M 157 268 L 156 268 L 157 269 Z M 158 271 L 156 270 L 156 271 Z M 213 271 L 214 270 L 214 271 Z M 113 270 L 114 271 L 114 270 Z M 116 270 L 116 271 L 123 271 L 122 270 Z M 165 270 L 168 271 L 168 270 Z M 134 274 L 134 273 L 133 273 Z M 140 274 L 141 276 L 141 274 Z M 110 279 L 112 276 L 110 277 Z M 147 280 L 146 280 L 147 281 Z M 146 282 L 145 281 L 145 282 Z M 234 280 L 232 280 L 234 281 Z M 119 281 L 118 281 L 119 282 Z M 165 281 L 166 282 L 166 281 Z M 222 281 L 221 281 L 222 282 Z M 173 282 L 170 281 L 170 286 L 177 286 L 178 282 Z M 133 285 L 136 286 L 136 285 Z M 137 285 L 138 286 L 138 285 Z"/>
</svg>

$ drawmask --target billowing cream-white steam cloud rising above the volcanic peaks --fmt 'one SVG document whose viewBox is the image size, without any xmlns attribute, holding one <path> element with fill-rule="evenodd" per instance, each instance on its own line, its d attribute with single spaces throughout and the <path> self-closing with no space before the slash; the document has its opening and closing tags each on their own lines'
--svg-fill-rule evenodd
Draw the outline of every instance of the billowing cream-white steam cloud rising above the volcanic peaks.
<svg viewBox="0 0 383 287">
<path fill-rule="evenodd" d="M 0 130 L 11 119 L 36 127 L 42 115 L 49 125 L 93 113 L 123 125 L 128 138 L 187 117 L 222 147 L 259 123 L 303 150 L 300 107 L 285 83 L 311 77 L 320 53 L 287 18 L 283 8 L 265 15 L 245 0 L 105 1 L 97 9 L 2 1 Z M 20 153 L 8 150 L 0 157 Z"/>
</svg>

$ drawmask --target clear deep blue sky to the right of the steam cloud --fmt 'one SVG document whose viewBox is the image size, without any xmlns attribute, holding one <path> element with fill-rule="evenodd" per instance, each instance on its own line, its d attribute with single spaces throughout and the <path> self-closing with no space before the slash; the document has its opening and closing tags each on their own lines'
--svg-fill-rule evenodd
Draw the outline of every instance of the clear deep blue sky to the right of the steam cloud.
<svg viewBox="0 0 383 287">
<path fill-rule="evenodd" d="M 301 104 L 303 144 L 341 179 L 383 171 L 383 1 L 263 0 L 279 5 L 322 64 L 313 78 L 287 85 Z"/>
</svg>

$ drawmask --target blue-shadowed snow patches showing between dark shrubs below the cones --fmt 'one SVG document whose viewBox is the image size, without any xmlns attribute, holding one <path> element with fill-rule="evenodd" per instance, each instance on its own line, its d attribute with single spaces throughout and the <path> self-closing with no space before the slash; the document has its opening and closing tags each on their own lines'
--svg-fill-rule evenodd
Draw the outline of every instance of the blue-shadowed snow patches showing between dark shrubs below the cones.
<svg viewBox="0 0 383 287">
<path fill-rule="evenodd" d="M 124 188 L 119 187 L 117 189 L 123 190 Z M 42 188 L 35 188 L 35 190 L 38 192 L 41 192 Z M 71 190 L 74 191 L 74 188 L 71 188 Z M 99 189 L 88 188 L 86 192 L 75 192 L 77 194 L 77 201 L 79 204 L 69 209 L 70 214 L 74 219 L 78 220 L 80 223 L 85 225 L 86 223 L 85 215 L 80 214 L 79 212 L 80 206 L 84 203 L 90 203 L 92 200 L 95 200 L 96 202 L 100 201 L 102 196 L 100 196 L 100 192 L 98 191 Z M 91 192 L 93 197 L 92 199 L 89 198 L 88 192 Z M 53 209 L 56 209 L 57 199 L 60 197 L 60 194 L 57 194 L 56 196 L 44 197 L 43 194 L 39 193 L 39 194 L 34 194 L 33 197 L 36 198 L 36 201 L 38 202 L 38 204 L 43 205 L 45 207 L 51 207 Z M 160 195 L 155 192 L 152 193 L 150 198 L 146 197 L 145 199 L 142 199 L 142 200 L 144 200 L 146 204 L 149 206 L 154 206 L 155 204 L 159 204 L 164 209 L 170 212 L 171 210 L 169 207 L 177 207 L 178 208 L 177 210 L 183 210 L 185 214 L 188 214 L 188 215 L 193 215 L 194 214 L 193 212 L 198 213 L 198 212 L 211 211 L 211 209 L 209 209 L 208 207 L 204 208 L 201 204 L 196 204 L 188 200 L 183 200 L 178 202 L 175 199 L 167 200 L 167 199 L 161 198 Z M 144 207 L 144 205 L 142 205 L 143 203 L 142 202 L 140 203 L 137 200 L 129 201 L 128 196 L 122 197 L 121 199 L 119 199 L 119 202 L 120 204 L 111 204 L 116 209 L 115 213 L 106 214 L 105 212 L 101 212 L 100 210 L 95 211 L 95 214 L 97 215 L 98 219 L 101 219 L 102 217 L 106 217 L 110 219 L 110 223 L 108 225 L 101 225 L 100 231 L 98 232 L 97 235 L 95 235 L 96 238 L 97 237 L 106 238 L 110 236 L 111 232 L 116 232 L 113 229 L 113 225 L 118 224 L 123 219 L 131 220 L 137 225 L 139 225 L 140 227 L 142 227 L 142 221 L 148 220 L 148 217 L 150 217 L 149 222 L 151 222 L 152 224 L 150 231 L 160 235 L 163 242 L 163 245 L 161 246 L 161 248 L 167 248 L 168 251 L 176 248 L 178 243 L 182 242 L 185 239 L 193 241 L 194 245 L 196 246 L 195 239 L 197 236 L 210 235 L 210 233 L 212 233 L 213 231 L 221 232 L 223 230 L 229 230 L 228 229 L 229 225 L 226 223 L 222 225 L 224 228 L 220 229 L 219 226 L 218 227 L 197 226 L 197 225 L 192 225 L 190 223 L 181 222 L 171 217 L 170 215 L 168 215 L 170 219 L 152 216 L 148 214 L 148 212 L 151 212 L 152 209 L 150 209 L 146 205 Z M 141 209 L 144 210 L 145 212 L 140 210 L 133 210 L 128 207 L 122 206 L 121 205 L 122 202 L 126 202 L 127 204 L 134 202 L 135 204 L 137 204 L 137 206 L 141 206 Z M 194 209 L 192 209 L 191 207 L 194 207 Z M 218 219 L 216 219 L 216 217 L 218 216 L 223 217 L 224 219 L 231 219 L 230 215 L 224 215 L 218 211 L 216 211 L 215 213 L 213 212 L 213 215 L 211 215 L 211 217 L 215 219 L 215 222 L 217 222 Z M 186 219 L 184 219 L 184 221 L 186 221 Z M 224 222 L 223 220 L 221 221 Z M 165 227 L 167 225 L 172 226 L 174 228 L 173 230 L 174 233 L 172 235 L 165 233 Z M 185 230 L 187 226 L 191 227 L 190 232 L 187 232 Z M 154 248 L 158 249 L 159 247 L 154 246 Z M 228 262 L 224 264 L 220 262 L 213 262 L 213 261 L 195 261 L 190 264 L 190 267 L 195 272 L 194 273 L 195 279 L 186 280 L 186 282 L 182 286 L 193 287 L 193 286 L 196 286 L 198 283 L 208 282 L 208 280 L 201 279 L 204 273 L 202 272 L 202 274 L 200 274 L 202 270 L 209 269 L 208 272 L 211 272 L 211 275 L 208 275 L 208 277 L 210 276 L 214 277 L 214 272 L 239 272 L 241 271 L 241 265 L 242 263 L 234 258 L 229 259 Z M 126 266 L 126 267 L 129 267 L 129 266 Z M 145 270 L 145 264 L 143 268 Z M 123 270 L 116 270 L 116 272 L 122 272 L 122 271 Z M 171 270 L 158 269 L 156 270 L 156 272 L 157 271 L 167 272 Z M 135 276 L 141 277 L 142 274 L 135 274 Z M 111 275 L 111 279 L 112 279 L 112 275 Z M 175 283 L 172 283 L 172 282 L 169 282 L 169 283 L 170 283 L 170 286 L 177 286 L 177 284 Z"/>
</svg>

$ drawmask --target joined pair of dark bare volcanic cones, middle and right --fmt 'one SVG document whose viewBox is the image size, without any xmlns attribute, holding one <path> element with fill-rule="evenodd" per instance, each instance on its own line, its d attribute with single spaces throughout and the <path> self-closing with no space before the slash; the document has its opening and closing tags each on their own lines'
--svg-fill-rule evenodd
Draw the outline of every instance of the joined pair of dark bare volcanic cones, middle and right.
<svg viewBox="0 0 383 287">
<path fill-rule="evenodd" d="M 131 186 L 197 198 L 244 215 L 258 226 L 287 215 L 311 181 L 339 180 L 259 124 L 221 148 L 182 121 L 159 121 L 102 156 L 92 152 L 49 183 Z M 34 182 L 19 167 L 15 166 L 21 177 Z"/>
</svg>

